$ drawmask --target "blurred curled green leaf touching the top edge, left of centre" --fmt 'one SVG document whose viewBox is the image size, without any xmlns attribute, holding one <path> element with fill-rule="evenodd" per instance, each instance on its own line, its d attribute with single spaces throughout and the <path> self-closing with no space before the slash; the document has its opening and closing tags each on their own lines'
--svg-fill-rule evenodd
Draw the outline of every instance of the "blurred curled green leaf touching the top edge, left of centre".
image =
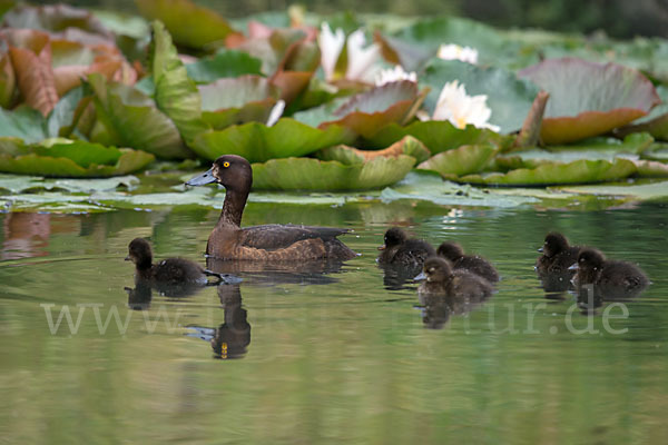
<svg viewBox="0 0 668 445">
<path fill-rule="evenodd" d="M 203 48 L 237 33 L 216 11 L 189 0 L 136 0 L 135 3 L 141 16 L 160 20 L 174 40 L 186 47 Z"/>
</svg>

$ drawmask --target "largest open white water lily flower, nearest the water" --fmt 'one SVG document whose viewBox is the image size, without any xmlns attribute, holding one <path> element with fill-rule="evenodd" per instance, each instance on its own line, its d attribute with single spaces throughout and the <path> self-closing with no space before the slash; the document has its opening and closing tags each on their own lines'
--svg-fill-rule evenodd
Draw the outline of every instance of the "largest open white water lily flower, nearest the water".
<svg viewBox="0 0 668 445">
<path fill-rule="evenodd" d="M 472 123 L 478 128 L 499 131 L 500 127 L 488 122 L 491 116 L 492 110 L 487 106 L 485 95 L 468 96 L 464 85 L 453 80 L 443 86 L 432 120 L 449 120 L 460 129 Z"/>
</svg>

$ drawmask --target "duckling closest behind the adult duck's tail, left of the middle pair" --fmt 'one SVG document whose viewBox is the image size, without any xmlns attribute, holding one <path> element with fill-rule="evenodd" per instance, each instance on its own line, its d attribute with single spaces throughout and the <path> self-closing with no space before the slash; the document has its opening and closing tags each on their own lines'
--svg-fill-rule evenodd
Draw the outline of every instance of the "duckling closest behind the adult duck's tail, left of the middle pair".
<svg viewBox="0 0 668 445">
<path fill-rule="evenodd" d="M 435 256 L 434 248 L 422 239 L 409 238 L 399 227 L 385 231 L 384 244 L 379 247 L 380 264 L 397 264 L 407 267 L 422 267 L 424 260 Z"/>
</svg>

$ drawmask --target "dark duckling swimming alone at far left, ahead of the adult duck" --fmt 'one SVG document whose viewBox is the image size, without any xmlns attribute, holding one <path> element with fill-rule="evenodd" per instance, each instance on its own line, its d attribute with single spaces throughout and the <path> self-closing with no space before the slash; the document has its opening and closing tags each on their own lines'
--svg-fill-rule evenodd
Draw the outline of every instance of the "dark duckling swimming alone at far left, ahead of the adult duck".
<svg viewBox="0 0 668 445">
<path fill-rule="evenodd" d="M 167 258 L 154 265 L 150 245 L 144 238 L 135 238 L 130 241 L 128 256 L 125 259 L 135 264 L 138 280 L 157 285 L 205 286 L 208 284 L 207 275 L 216 277 L 218 283 L 238 283 L 240 280 L 230 275 L 205 270 L 197 263 L 185 258 Z"/>
</svg>

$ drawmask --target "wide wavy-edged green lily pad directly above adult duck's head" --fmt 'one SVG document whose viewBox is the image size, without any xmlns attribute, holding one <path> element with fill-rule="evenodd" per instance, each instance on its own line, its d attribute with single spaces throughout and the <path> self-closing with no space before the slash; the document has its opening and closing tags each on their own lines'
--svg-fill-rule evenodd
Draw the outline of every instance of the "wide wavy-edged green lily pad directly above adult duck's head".
<svg viewBox="0 0 668 445">
<path fill-rule="evenodd" d="M 273 127 L 248 122 L 220 131 L 207 131 L 193 141 L 193 150 L 214 160 L 222 155 L 239 155 L 249 162 L 274 158 L 305 156 L 321 148 L 350 144 L 355 138 L 348 129 L 331 126 L 324 130 L 282 118 Z"/>
</svg>

